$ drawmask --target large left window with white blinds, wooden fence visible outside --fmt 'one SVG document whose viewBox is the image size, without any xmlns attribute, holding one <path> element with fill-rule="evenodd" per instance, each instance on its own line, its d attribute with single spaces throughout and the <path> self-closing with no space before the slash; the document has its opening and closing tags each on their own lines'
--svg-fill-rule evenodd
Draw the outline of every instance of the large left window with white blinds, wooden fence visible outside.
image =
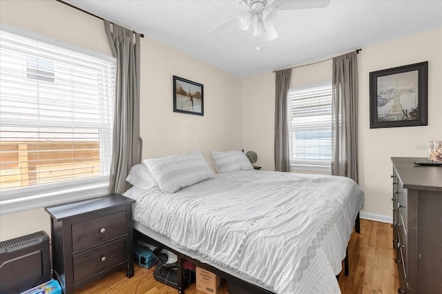
<svg viewBox="0 0 442 294">
<path fill-rule="evenodd" d="M 0 30 L 0 205 L 9 213 L 108 191 L 115 59 Z"/>
</svg>

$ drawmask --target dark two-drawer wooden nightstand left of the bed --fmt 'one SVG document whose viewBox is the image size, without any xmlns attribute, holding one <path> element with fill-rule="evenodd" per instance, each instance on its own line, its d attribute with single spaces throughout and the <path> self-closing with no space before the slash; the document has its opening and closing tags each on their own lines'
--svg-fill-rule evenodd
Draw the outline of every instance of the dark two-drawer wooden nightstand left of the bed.
<svg viewBox="0 0 442 294">
<path fill-rule="evenodd" d="M 133 276 L 132 204 L 119 194 L 46 207 L 52 270 L 65 294 L 126 268 Z"/>
</svg>

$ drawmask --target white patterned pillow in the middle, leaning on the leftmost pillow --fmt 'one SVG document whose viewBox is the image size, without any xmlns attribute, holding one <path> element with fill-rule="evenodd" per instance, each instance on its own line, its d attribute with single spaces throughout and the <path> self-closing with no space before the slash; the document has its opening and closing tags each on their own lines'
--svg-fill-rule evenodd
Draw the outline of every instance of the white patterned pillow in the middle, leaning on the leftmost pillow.
<svg viewBox="0 0 442 294">
<path fill-rule="evenodd" d="M 155 181 L 164 193 L 175 193 L 180 188 L 191 186 L 212 177 L 209 165 L 201 151 L 172 155 L 155 159 L 144 159 Z"/>
</svg>

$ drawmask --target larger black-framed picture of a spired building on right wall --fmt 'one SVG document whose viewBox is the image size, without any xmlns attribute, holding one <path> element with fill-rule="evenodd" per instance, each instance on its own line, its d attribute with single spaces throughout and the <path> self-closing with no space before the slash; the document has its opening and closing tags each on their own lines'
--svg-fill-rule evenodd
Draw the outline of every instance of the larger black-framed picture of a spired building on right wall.
<svg viewBox="0 0 442 294">
<path fill-rule="evenodd" d="M 370 128 L 427 126 L 428 61 L 370 72 Z"/>
</svg>

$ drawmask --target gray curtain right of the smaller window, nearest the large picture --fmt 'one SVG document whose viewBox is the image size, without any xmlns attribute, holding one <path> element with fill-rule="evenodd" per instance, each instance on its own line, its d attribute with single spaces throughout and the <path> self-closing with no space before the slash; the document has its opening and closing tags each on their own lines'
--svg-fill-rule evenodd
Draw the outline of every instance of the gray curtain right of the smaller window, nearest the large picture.
<svg viewBox="0 0 442 294">
<path fill-rule="evenodd" d="M 332 175 L 358 182 L 358 62 L 351 52 L 333 59 Z"/>
</svg>

